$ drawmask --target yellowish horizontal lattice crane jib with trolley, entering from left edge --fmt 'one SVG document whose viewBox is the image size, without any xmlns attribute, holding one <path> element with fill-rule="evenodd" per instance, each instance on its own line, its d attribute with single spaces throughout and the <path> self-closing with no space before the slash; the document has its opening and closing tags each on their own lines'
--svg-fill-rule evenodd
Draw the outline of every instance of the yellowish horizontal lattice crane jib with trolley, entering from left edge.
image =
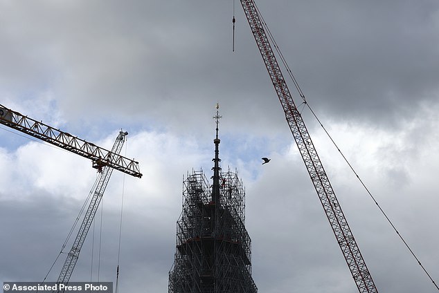
<svg viewBox="0 0 439 293">
<path fill-rule="evenodd" d="M 34 138 L 38 138 L 39 140 L 44 140 L 57 147 L 71 151 L 72 153 L 82 155 L 82 157 L 92 160 L 93 167 L 96 169 L 109 166 L 128 175 L 138 178 L 142 177 L 140 169 L 138 168 L 138 162 L 129 160 L 122 155 L 111 153 L 111 151 L 102 149 L 91 142 L 81 140 L 70 133 L 60 131 L 52 126 L 21 115 L 21 113 L 12 111 L 10 108 L 6 108 L 1 104 L 0 123 L 33 136 Z"/>
</svg>

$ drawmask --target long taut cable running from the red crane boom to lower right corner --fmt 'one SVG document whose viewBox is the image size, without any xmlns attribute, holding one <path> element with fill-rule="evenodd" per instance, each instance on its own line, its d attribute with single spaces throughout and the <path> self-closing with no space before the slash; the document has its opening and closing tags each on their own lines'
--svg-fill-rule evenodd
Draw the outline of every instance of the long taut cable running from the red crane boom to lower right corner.
<svg viewBox="0 0 439 293">
<path fill-rule="evenodd" d="M 345 162 L 348 164 L 348 166 L 350 167 L 350 169 L 352 170 L 352 172 L 355 174 L 355 176 L 357 176 L 359 182 L 361 183 L 361 185 L 364 187 L 364 189 L 366 190 L 366 192 L 368 193 L 368 195 L 370 196 L 370 198 L 372 198 L 373 202 L 375 202 L 375 205 L 377 205 L 379 211 L 381 211 L 381 213 L 383 214 L 384 218 L 386 218 L 386 220 L 388 221 L 388 223 L 391 225 L 391 227 L 393 228 L 393 230 L 395 230 L 397 236 L 399 236 L 399 238 L 402 240 L 402 242 L 404 243 L 404 245 L 406 246 L 407 249 L 409 249 L 409 252 L 411 253 L 411 255 L 413 256 L 413 258 L 415 258 L 415 260 L 418 262 L 418 264 L 420 265 L 420 267 L 422 267 L 422 270 L 424 271 L 425 274 L 427 274 L 427 276 L 429 277 L 430 281 L 433 283 L 433 285 L 436 287 L 436 289 L 439 290 L 438 285 L 436 284 L 436 282 L 433 280 L 433 278 L 431 277 L 431 275 L 429 274 L 429 272 L 427 271 L 427 269 L 424 267 L 424 265 L 422 265 L 422 263 L 420 262 L 418 256 L 415 255 L 415 253 L 413 252 L 413 249 L 411 249 L 411 247 L 409 246 L 409 244 L 406 242 L 406 240 L 402 237 L 402 235 L 400 234 L 399 231 L 397 231 L 395 225 L 392 223 L 391 219 L 388 218 L 386 212 L 382 209 L 382 207 L 378 204 L 377 200 L 375 199 L 375 197 L 372 195 L 372 193 L 369 191 L 368 187 L 366 187 L 366 184 L 363 182 L 363 180 L 361 180 L 361 178 L 359 177 L 357 171 L 355 171 L 355 169 L 352 167 L 352 164 L 350 164 L 350 162 L 348 161 L 348 159 L 346 158 L 346 156 L 341 152 L 341 150 L 339 149 L 338 145 L 335 143 L 335 141 L 332 139 L 330 133 L 325 129 L 325 126 L 323 126 L 323 124 L 321 123 L 321 121 L 319 120 L 319 118 L 317 117 L 316 113 L 312 110 L 310 104 L 307 103 L 306 99 L 305 99 L 305 95 L 303 94 L 303 91 L 301 89 L 301 87 L 299 86 L 296 77 L 294 77 L 292 70 L 289 68 L 286 59 L 283 57 L 282 52 L 280 52 L 280 48 L 278 46 L 278 44 L 276 44 L 276 40 L 274 39 L 273 35 L 271 34 L 267 23 L 265 22 L 264 18 L 262 17 L 262 14 L 260 13 L 260 10 L 258 8 L 258 6 L 256 6 L 255 3 L 255 7 L 256 10 L 258 12 L 258 15 L 260 16 L 260 19 L 262 19 L 262 26 L 264 26 L 265 30 L 268 32 L 268 36 L 269 39 L 271 40 L 272 44 L 274 45 L 274 48 L 276 49 L 276 52 L 278 53 L 278 55 L 280 56 L 280 60 L 283 63 L 283 66 L 285 66 L 287 73 L 289 75 L 289 77 L 292 79 L 292 82 L 294 83 L 294 86 L 296 87 L 296 90 L 298 91 L 298 94 L 301 96 L 301 98 L 303 99 L 303 104 L 305 104 L 311 111 L 312 115 L 314 115 L 314 117 L 316 118 L 317 122 L 319 122 L 320 126 L 322 127 L 323 131 L 325 131 L 326 135 L 328 135 L 328 138 L 330 138 L 332 144 L 334 144 L 334 147 L 337 148 L 337 151 L 339 151 L 339 153 L 341 154 L 341 156 L 343 157 L 343 160 L 345 160 Z"/>
</svg>

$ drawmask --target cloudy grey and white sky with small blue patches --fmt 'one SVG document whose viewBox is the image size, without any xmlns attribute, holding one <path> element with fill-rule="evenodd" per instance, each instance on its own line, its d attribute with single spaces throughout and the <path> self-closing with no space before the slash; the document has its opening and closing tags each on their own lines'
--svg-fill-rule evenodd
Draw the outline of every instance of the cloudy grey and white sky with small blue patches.
<svg viewBox="0 0 439 293">
<path fill-rule="evenodd" d="M 439 283 L 438 1 L 256 4 L 307 103 Z M 356 291 L 240 1 L 0 0 L 0 45 L 0 104 L 105 149 L 124 129 L 122 154 L 143 173 L 113 173 L 71 281 L 115 282 L 119 263 L 119 292 L 167 292 L 182 181 L 210 178 L 218 102 L 259 292 Z M 436 292 L 289 88 L 379 292 Z M 0 283 L 55 281 L 96 172 L 0 128 Z"/>
</svg>

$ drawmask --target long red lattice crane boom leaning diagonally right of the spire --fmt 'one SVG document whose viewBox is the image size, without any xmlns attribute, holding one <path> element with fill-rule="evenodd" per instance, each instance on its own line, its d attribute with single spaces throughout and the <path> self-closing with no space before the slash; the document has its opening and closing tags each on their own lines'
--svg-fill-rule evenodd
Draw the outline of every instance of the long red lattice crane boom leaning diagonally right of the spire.
<svg viewBox="0 0 439 293">
<path fill-rule="evenodd" d="M 249 22 L 251 32 L 253 32 L 253 37 L 256 40 L 262 59 L 271 77 L 271 82 L 273 82 L 280 104 L 283 106 L 289 128 L 292 131 L 294 140 L 302 155 L 303 162 L 305 162 L 314 188 L 317 191 L 325 214 L 332 227 L 332 231 L 334 231 L 334 235 L 337 238 L 341 252 L 343 252 L 343 256 L 346 259 L 346 263 L 348 264 L 358 290 L 360 293 L 378 292 L 372 276 L 370 276 L 368 268 L 366 267 L 364 258 L 361 256 L 357 242 L 352 235 L 346 217 L 341 210 L 339 201 L 335 196 L 325 169 L 323 169 L 323 164 L 312 143 L 310 133 L 307 131 L 301 113 L 299 113 L 294 104 L 294 100 L 280 70 L 274 51 L 271 48 L 267 34 L 262 26 L 261 17 L 256 8 L 256 4 L 253 0 L 240 1 L 242 8 L 244 8 L 247 21 Z"/>
</svg>

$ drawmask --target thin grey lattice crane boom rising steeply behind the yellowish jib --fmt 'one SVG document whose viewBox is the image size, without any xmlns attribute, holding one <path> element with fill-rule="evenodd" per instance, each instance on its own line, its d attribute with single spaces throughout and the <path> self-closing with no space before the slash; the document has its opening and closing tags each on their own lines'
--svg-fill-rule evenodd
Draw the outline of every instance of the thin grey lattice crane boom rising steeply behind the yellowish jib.
<svg viewBox="0 0 439 293">
<path fill-rule="evenodd" d="M 116 141 L 114 142 L 114 146 L 111 149 L 111 155 L 118 155 L 118 153 L 120 153 L 123 143 L 125 142 L 125 136 L 127 134 L 127 132 L 120 131 Z M 112 172 L 113 168 L 109 167 L 108 165 L 102 168 L 102 172 L 97 179 L 98 183 L 96 185 L 96 189 L 94 190 L 93 197 L 91 198 L 89 207 L 85 213 L 84 219 L 82 220 L 81 227 L 76 235 L 70 252 L 67 254 L 66 261 L 64 262 L 60 276 L 58 276 L 57 283 L 62 283 L 64 285 L 69 283 L 70 276 L 76 265 L 76 261 L 78 261 L 82 244 L 84 244 L 85 237 L 87 236 L 90 226 L 93 223 L 94 216 L 98 210 L 100 200 L 104 195 L 105 188 L 107 187 Z M 58 290 L 57 292 L 64 292 L 64 290 Z"/>
</svg>

